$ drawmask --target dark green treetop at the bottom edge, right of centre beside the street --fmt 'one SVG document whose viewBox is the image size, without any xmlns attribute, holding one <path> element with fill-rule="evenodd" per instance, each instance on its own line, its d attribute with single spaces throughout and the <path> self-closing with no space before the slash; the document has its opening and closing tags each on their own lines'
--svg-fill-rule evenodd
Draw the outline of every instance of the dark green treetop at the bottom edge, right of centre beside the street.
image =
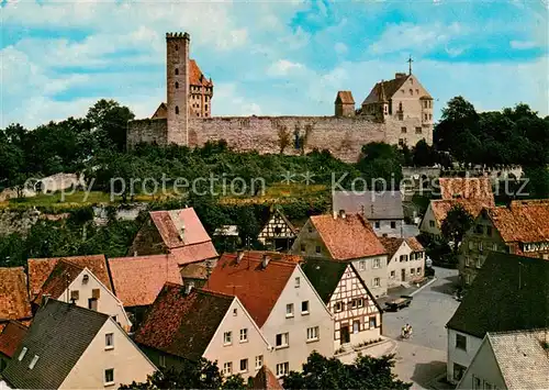
<svg viewBox="0 0 549 390">
<path fill-rule="evenodd" d="M 303 371 L 291 371 L 283 378 L 284 389 L 391 389 L 407 390 L 392 372 L 394 355 L 380 358 L 359 355 L 355 363 L 345 365 L 339 359 L 326 358 L 313 352 L 303 365 Z"/>
</svg>

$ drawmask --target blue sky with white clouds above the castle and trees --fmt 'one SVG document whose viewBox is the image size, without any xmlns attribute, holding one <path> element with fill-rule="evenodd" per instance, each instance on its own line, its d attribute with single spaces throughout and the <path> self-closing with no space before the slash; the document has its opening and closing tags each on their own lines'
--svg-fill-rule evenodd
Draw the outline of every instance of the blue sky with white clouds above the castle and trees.
<svg viewBox="0 0 549 390">
<path fill-rule="evenodd" d="M 332 115 L 413 73 L 435 119 L 525 102 L 548 114 L 548 0 L 0 0 L 0 127 L 82 116 L 114 99 L 137 118 L 166 100 L 166 33 L 188 32 L 214 81 L 213 115 Z"/>
</svg>

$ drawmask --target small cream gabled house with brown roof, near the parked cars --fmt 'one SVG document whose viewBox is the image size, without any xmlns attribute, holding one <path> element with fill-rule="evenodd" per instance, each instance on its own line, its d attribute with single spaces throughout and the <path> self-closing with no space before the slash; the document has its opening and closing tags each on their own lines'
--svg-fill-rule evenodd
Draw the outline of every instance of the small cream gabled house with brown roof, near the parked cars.
<svg viewBox="0 0 549 390">
<path fill-rule="evenodd" d="M 380 237 L 388 253 L 388 287 L 419 281 L 425 276 L 425 248 L 415 237 Z"/>
</svg>

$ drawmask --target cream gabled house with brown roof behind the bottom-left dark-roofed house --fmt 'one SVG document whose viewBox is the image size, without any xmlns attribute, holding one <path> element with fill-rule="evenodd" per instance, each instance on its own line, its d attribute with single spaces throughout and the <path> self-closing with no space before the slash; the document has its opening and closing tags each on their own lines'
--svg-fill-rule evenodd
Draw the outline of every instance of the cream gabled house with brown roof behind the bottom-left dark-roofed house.
<svg viewBox="0 0 549 390">
<path fill-rule="evenodd" d="M 45 297 L 109 314 L 126 332 L 132 326 L 122 302 L 114 293 L 88 268 L 74 263 L 64 259 L 56 261 L 32 302 L 34 307 L 40 307 Z"/>
</svg>

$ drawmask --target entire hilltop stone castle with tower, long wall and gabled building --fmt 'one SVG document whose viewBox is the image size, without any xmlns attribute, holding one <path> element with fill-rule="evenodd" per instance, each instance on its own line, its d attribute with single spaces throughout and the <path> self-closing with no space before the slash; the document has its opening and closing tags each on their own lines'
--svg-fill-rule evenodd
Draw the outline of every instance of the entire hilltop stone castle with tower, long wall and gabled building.
<svg viewBox="0 0 549 390">
<path fill-rule="evenodd" d="M 376 83 L 359 109 L 350 91 L 339 91 L 332 116 L 212 118 L 213 81 L 190 59 L 189 34 L 167 33 L 166 45 L 167 101 L 150 119 L 128 122 L 128 148 L 225 140 L 242 152 L 298 155 L 317 148 L 356 161 L 370 142 L 433 143 L 433 98 L 412 74 L 412 59 L 407 74 Z"/>
</svg>

